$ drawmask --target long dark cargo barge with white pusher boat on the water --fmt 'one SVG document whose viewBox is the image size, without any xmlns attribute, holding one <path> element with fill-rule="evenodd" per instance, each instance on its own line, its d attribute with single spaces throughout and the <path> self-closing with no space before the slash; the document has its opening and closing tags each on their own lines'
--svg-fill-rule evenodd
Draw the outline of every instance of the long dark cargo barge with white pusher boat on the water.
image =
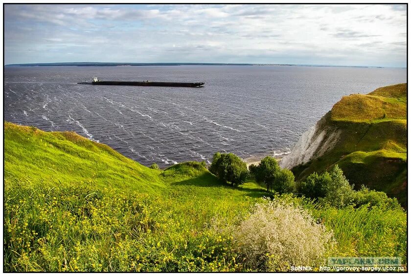
<svg viewBox="0 0 411 276">
<path fill-rule="evenodd" d="M 204 82 L 156 82 L 156 81 L 102 81 L 96 77 L 77 84 L 91 85 L 132 85 L 132 86 L 168 86 L 168 87 L 202 87 Z"/>
</svg>

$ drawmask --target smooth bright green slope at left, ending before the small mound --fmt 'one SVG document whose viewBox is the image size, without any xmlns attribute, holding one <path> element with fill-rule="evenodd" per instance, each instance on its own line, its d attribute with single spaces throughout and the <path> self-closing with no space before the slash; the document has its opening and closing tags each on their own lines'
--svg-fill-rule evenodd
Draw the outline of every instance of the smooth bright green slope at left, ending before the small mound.
<svg viewBox="0 0 411 276">
<path fill-rule="evenodd" d="M 159 171 L 125 158 L 109 146 L 73 132 L 44 132 L 4 123 L 4 176 L 49 182 L 88 182 L 100 187 L 156 193 Z"/>
</svg>

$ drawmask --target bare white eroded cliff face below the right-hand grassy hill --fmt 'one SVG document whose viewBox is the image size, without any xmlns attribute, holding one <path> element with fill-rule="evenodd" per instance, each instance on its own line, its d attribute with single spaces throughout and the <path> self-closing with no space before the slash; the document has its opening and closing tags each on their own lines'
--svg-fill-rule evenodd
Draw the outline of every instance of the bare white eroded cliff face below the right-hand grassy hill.
<svg viewBox="0 0 411 276">
<path fill-rule="evenodd" d="M 302 134 L 291 153 L 281 159 L 279 165 L 282 168 L 292 169 L 297 165 L 307 163 L 334 147 L 342 131 L 329 124 L 330 115 L 328 112 L 315 126 Z"/>
</svg>

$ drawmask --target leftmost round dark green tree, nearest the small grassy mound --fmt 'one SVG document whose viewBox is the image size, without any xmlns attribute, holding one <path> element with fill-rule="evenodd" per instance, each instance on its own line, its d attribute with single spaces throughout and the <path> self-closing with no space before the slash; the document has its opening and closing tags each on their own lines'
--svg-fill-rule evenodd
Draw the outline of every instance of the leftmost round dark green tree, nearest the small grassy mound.
<svg viewBox="0 0 411 276">
<path fill-rule="evenodd" d="M 243 184 L 247 178 L 247 164 L 232 153 L 216 153 L 209 171 L 233 186 Z"/>
</svg>

